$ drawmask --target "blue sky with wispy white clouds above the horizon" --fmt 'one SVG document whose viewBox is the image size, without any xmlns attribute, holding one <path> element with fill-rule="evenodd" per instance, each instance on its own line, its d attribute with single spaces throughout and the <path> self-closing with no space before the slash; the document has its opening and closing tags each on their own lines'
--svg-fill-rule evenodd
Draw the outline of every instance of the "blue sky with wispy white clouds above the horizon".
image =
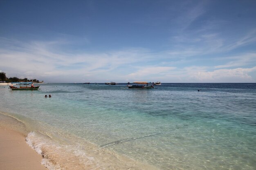
<svg viewBox="0 0 256 170">
<path fill-rule="evenodd" d="M 0 72 L 44 82 L 256 82 L 256 0 L 0 0 Z"/>
</svg>

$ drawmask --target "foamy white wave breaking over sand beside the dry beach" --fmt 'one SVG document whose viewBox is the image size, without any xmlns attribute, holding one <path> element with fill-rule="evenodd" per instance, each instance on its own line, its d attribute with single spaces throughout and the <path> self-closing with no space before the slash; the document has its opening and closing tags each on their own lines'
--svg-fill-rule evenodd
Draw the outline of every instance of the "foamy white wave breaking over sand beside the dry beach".
<svg viewBox="0 0 256 170">
<path fill-rule="evenodd" d="M 60 144 L 42 132 L 29 132 L 27 144 L 42 155 L 49 170 L 158 170 L 92 144 Z"/>
</svg>

